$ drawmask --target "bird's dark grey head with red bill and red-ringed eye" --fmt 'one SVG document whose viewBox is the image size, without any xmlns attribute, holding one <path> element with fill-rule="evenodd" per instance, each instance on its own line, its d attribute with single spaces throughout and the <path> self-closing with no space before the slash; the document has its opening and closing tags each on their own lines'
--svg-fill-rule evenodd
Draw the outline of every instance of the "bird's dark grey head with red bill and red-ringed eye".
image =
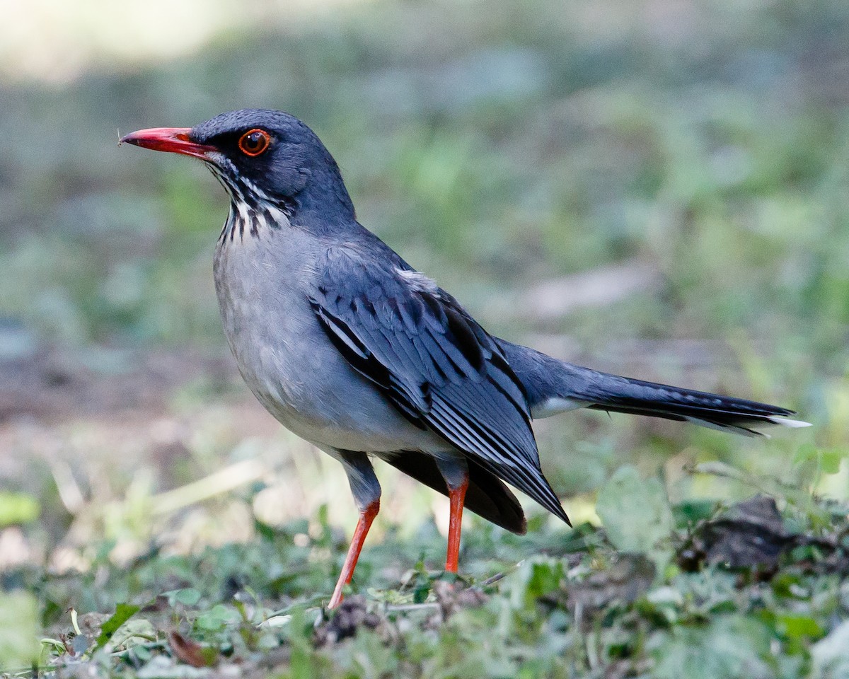
<svg viewBox="0 0 849 679">
<path fill-rule="evenodd" d="M 132 132 L 121 138 L 124 142 L 200 158 L 234 206 L 284 205 L 304 226 L 318 220 L 326 228 L 354 220 L 333 156 L 315 132 L 283 111 L 230 111 L 194 127 Z"/>
</svg>

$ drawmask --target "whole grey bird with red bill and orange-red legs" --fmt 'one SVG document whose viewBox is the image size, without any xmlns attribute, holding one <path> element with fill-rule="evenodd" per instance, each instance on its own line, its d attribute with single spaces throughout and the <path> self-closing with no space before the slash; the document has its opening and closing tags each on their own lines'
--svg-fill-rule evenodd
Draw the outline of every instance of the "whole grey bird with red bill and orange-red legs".
<svg viewBox="0 0 849 679">
<path fill-rule="evenodd" d="M 358 221 L 334 157 L 295 116 L 241 109 L 121 137 L 193 156 L 229 195 L 213 276 L 239 372 L 274 418 L 338 460 L 359 517 L 329 609 L 374 517 L 376 458 L 447 495 L 445 570 L 464 508 L 523 534 L 513 486 L 570 524 L 532 422 L 591 408 L 743 435 L 808 423 L 745 399 L 602 373 L 490 334 Z"/>
</svg>

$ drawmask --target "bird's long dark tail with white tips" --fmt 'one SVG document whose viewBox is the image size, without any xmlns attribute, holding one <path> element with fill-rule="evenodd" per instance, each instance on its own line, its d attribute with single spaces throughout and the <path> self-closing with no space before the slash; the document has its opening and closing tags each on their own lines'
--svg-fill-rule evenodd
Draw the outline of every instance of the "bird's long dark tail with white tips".
<svg viewBox="0 0 849 679">
<path fill-rule="evenodd" d="M 810 426 L 791 419 L 796 413 L 787 408 L 599 373 L 525 346 L 498 341 L 525 386 L 534 418 L 587 407 L 687 421 L 747 436 L 762 435 L 758 428 L 774 424 Z"/>
</svg>

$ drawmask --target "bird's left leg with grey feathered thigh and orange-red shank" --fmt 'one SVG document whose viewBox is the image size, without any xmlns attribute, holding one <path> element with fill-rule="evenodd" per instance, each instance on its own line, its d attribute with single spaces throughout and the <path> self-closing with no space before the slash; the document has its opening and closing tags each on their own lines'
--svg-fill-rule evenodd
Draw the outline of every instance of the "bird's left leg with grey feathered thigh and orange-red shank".
<svg viewBox="0 0 849 679">
<path fill-rule="evenodd" d="M 380 483 L 374 475 L 368 456 L 364 452 L 338 451 L 336 453 L 334 457 L 340 459 L 348 474 L 351 493 L 360 509 L 360 518 L 357 521 L 357 528 L 354 529 L 354 536 L 351 538 L 351 547 L 348 547 L 345 564 L 342 566 L 342 572 L 339 574 L 339 580 L 336 581 L 333 596 L 330 598 L 330 609 L 335 609 L 342 603 L 342 589 L 351 582 L 368 529 L 371 528 L 374 517 L 380 511 Z"/>
</svg>

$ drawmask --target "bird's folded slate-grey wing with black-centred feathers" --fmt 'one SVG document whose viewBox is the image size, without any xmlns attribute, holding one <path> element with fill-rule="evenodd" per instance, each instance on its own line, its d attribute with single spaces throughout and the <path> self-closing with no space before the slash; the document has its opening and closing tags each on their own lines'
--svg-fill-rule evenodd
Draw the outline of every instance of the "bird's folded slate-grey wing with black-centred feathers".
<svg viewBox="0 0 849 679">
<path fill-rule="evenodd" d="M 540 469 L 525 390 L 492 336 L 451 295 L 411 283 L 403 261 L 379 266 L 353 246 L 326 256 L 310 303 L 351 367 L 410 422 L 568 522 Z"/>
</svg>

